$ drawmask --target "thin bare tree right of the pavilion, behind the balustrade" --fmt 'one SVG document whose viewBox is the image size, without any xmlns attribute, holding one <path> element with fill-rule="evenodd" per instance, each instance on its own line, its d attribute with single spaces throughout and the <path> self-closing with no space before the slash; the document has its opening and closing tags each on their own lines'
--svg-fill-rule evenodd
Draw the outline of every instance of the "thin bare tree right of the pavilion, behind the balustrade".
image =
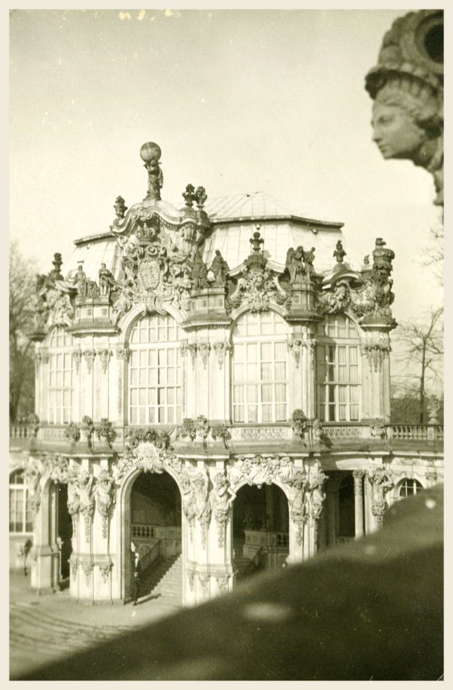
<svg viewBox="0 0 453 690">
<path fill-rule="evenodd" d="M 402 374 L 392 376 L 394 394 L 418 402 L 419 423 L 425 422 L 427 386 L 443 383 L 443 309 L 432 309 L 421 323 L 402 324 L 395 339 L 401 350 Z"/>
</svg>

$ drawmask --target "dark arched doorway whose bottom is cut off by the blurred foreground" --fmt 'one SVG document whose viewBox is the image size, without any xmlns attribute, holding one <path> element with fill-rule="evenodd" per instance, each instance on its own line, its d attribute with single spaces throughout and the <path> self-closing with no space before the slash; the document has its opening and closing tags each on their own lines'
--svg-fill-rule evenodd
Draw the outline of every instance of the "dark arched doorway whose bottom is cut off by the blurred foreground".
<svg viewBox="0 0 453 690">
<path fill-rule="evenodd" d="M 233 564 L 237 579 L 275 571 L 289 554 L 288 499 L 276 486 L 242 486 L 233 504 Z"/>
</svg>

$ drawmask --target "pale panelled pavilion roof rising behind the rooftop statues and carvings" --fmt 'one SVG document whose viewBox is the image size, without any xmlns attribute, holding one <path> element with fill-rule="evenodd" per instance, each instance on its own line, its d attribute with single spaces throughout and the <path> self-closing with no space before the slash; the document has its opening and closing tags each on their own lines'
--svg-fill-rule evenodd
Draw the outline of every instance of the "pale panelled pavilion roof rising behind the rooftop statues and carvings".
<svg viewBox="0 0 453 690">
<path fill-rule="evenodd" d="M 165 207 L 167 211 L 172 209 L 175 216 L 180 213 L 168 202 L 157 201 L 156 207 Z M 217 249 L 230 270 L 241 265 L 250 254 L 250 238 L 256 225 L 259 225 L 264 240 L 265 256 L 281 267 L 285 265 L 288 249 L 303 245 L 305 248 L 314 247 L 316 271 L 330 271 L 334 267 L 332 254 L 336 242 L 343 240 L 342 222 L 307 218 L 261 191 L 217 197 L 208 200 L 204 210 L 212 222 L 212 232 L 203 251 L 203 259 L 208 266 Z M 78 263 L 83 261 L 83 270 L 88 278 L 97 278 L 102 263 L 117 277 L 122 249 L 112 231 L 75 240 L 74 244 L 76 247 L 65 262 L 66 276 L 77 271 Z"/>
</svg>

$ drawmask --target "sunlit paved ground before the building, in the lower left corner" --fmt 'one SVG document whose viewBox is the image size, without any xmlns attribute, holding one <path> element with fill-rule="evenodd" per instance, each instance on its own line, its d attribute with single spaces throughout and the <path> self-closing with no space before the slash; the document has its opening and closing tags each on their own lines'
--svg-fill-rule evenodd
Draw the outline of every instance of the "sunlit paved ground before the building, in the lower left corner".
<svg viewBox="0 0 453 690">
<path fill-rule="evenodd" d="M 144 596 L 138 606 L 77 604 L 65 590 L 37 595 L 30 576 L 10 574 L 10 678 L 32 673 L 41 664 L 62 660 L 171 615 L 179 606 L 165 597 Z"/>
</svg>

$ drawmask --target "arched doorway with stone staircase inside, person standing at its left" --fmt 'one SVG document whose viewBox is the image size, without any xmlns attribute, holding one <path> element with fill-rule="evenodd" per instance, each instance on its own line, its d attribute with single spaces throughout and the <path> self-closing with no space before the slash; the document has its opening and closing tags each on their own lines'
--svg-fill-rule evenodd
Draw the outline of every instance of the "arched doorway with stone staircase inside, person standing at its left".
<svg viewBox="0 0 453 690">
<path fill-rule="evenodd" d="M 182 601 L 181 493 L 168 472 L 140 472 L 130 491 L 130 528 L 125 557 L 131 544 L 139 553 L 139 602 L 163 597 Z M 125 598 L 130 595 L 132 567 L 126 563 Z"/>
</svg>

